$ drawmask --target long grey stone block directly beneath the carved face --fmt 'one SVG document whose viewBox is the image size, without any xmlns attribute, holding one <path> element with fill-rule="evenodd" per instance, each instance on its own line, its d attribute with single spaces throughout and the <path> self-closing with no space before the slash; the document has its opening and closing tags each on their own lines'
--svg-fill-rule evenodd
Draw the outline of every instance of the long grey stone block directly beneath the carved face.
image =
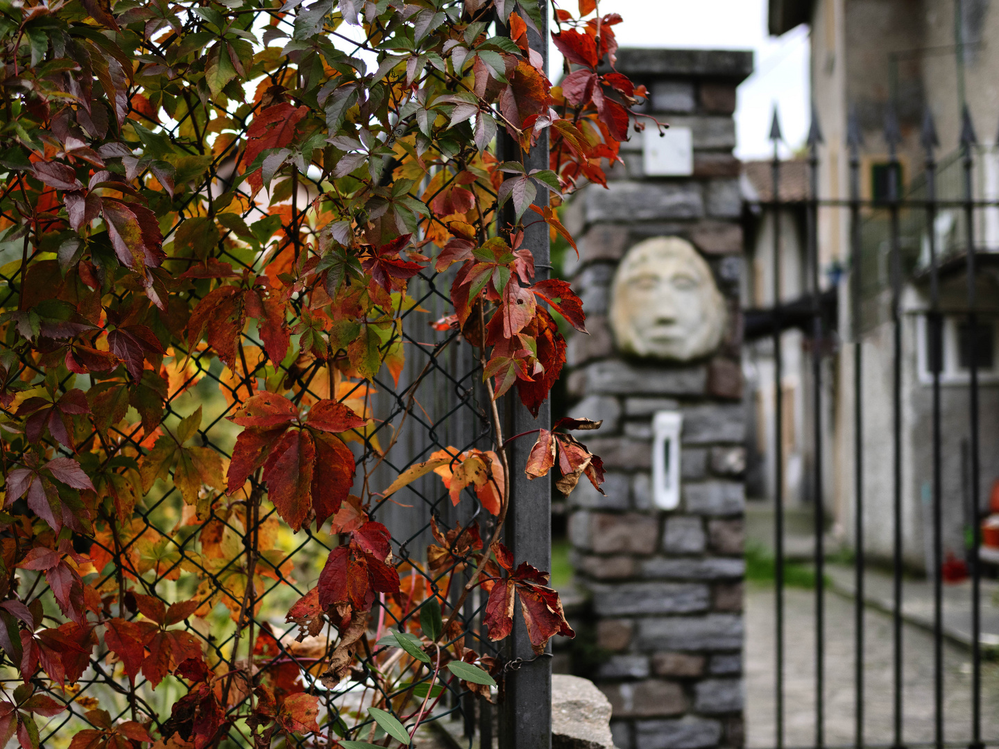
<svg viewBox="0 0 999 749">
<path fill-rule="evenodd" d="M 595 362 L 577 370 L 585 392 L 607 395 L 701 395 L 707 386 L 702 365 L 639 367 L 620 360 Z M 574 375 L 575 373 L 573 373 Z"/>
</svg>

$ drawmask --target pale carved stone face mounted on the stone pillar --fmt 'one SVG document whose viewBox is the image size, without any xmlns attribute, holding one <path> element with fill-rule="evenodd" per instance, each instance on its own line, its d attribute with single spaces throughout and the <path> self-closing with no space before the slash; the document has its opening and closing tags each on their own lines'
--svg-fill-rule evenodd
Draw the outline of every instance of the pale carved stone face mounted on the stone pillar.
<svg viewBox="0 0 999 749">
<path fill-rule="evenodd" d="M 725 302 L 689 242 L 656 237 L 628 250 L 617 267 L 610 327 L 622 352 L 689 362 L 721 343 Z"/>
</svg>

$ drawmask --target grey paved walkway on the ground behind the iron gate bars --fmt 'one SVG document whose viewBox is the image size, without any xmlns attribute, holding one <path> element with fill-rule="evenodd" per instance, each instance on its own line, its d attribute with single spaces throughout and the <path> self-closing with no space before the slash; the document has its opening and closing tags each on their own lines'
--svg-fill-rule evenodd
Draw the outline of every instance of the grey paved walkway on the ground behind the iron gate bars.
<svg viewBox="0 0 999 749">
<path fill-rule="evenodd" d="M 851 601 L 828 592 L 825 637 L 825 742 L 828 746 L 854 741 L 854 609 Z M 785 746 L 815 742 L 815 594 L 785 591 Z M 868 607 L 865 612 L 864 683 L 865 741 L 892 740 L 891 619 Z M 746 743 L 774 746 L 774 595 L 766 583 L 746 587 Z M 904 736 L 918 744 L 933 739 L 933 639 L 922 628 L 906 624 L 904 655 Z M 999 745 L 999 664 L 983 664 L 982 737 Z M 971 663 L 967 648 L 945 642 L 944 726 L 948 742 L 971 736 Z"/>
</svg>

